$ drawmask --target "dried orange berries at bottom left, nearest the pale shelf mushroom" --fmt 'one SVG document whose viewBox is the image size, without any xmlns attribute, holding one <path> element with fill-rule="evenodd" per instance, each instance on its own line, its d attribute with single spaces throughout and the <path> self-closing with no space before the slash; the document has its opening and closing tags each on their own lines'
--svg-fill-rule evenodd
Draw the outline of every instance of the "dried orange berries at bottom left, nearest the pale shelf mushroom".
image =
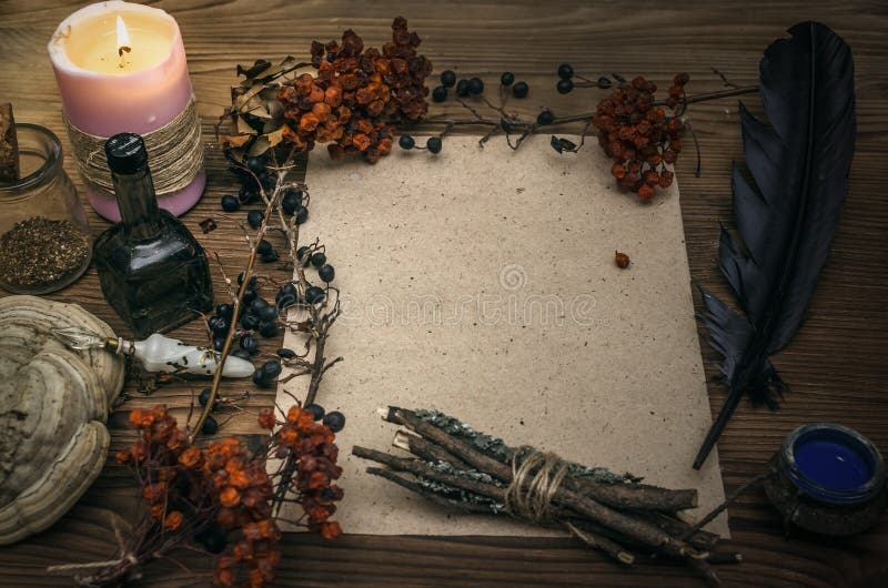
<svg viewBox="0 0 888 588">
<path fill-rule="evenodd" d="M 149 533 L 164 533 L 168 545 L 193 539 L 211 552 L 221 552 L 233 538 L 232 555 L 216 562 L 214 584 L 233 586 L 239 575 L 251 588 L 270 584 L 281 559 L 281 534 L 271 518 L 273 487 L 264 455 L 254 458 L 236 437 L 195 447 L 165 406 L 134 409 L 130 423 L 139 439 L 117 458 L 145 480 L 142 494 L 155 521 Z"/>
</svg>

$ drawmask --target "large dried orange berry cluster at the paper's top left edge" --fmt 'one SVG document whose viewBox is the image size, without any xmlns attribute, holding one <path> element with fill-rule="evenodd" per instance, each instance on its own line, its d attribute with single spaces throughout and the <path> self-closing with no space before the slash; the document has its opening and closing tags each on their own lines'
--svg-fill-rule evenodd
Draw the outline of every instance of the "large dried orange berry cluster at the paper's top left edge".
<svg viewBox="0 0 888 588">
<path fill-rule="evenodd" d="M 278 91 L 284 105 L 283 140 L 299 150 L 329 143 L 334 159 L 361 153 L 375 163 L 392 150 L 394 125 L 415 121 L 428 110 L 425 78 L 432 63 L 416 54 L 420 37 L 401 17 L 382 51 L 364 50 L 353 30 L 342 42 L 312 42 L 317 75 L 303 73 Z"/>
</svg>

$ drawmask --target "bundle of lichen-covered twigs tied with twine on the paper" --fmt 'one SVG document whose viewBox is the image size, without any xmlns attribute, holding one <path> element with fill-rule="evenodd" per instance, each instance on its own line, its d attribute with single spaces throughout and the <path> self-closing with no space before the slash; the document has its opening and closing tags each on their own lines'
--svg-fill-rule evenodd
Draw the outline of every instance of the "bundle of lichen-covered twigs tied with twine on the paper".
<svg viewBox="0 0 888 588">
<path fill-rule="evenodd" d="M 713 564 L 740 560 L 715 552 L 718 536 L 678 515 L 697 506 L 694 489 L 644 485 L 533 447 L 513 448 L 436 410 L 392 406 L 381 416 L 408 429 L 393 445 L 416 457 L 357 446 L 352 453 L 387 466 L 369 467 L 370 474 L 435 504 L 562 528 L 625 565 L 635 561 L 633 551 L 683 559 L 712 584 L 718 584 Z"/>
</svg>

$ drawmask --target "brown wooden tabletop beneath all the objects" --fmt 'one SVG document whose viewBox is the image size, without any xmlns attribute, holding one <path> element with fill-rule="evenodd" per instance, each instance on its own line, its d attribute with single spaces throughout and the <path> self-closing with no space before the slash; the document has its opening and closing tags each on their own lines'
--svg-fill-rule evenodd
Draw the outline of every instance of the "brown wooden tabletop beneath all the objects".
<svg viewBox="0 0 888 588">
<path fill-rule="evenodd" d="M 52 6 L 50 6 L 52 4 Z M 835 239 L 833 256 L 810 307 L 810 317 L 793 344 L 775 363 L 793 391 L 779 412 L 741 405 L 719 443 L 726 490 L 759 473 L 783 437 L 796 426 L 835 420 L 857 428 L 882 450 L 888 450 L 888 377 L 885 369 L 885 301 L 888 298 L 888 199 L 884 186 L 888 156 L 888 10 L 877 1 L 851 6 L 842 2 L 743 1 L 660 3 L 645 8 L 629 2 L 566 1 L 549 6 L 538 0 L 508 4 L 493 0 L 455 3 L 326 2 L 183 0 L 155 2 L 171 12 L 182 29 L 204 131 L 229 99 L 234 65 L 258 58 L 307 55 L 313 39 L 339 38 L 353 27 L 370 44 L 387 38 L 392 17 L 407 17 L 424 39 L 422 50 L 436 72 L 453 68 L 458 74 L 482 75 L 493 85 L 509 70 L 529 82 L 532 93 L 521 103 L 535 115 L 543 105 L 557 113 L 589 110 L 595 90 L 555 93 L 555 68 L 568 61 L 589 77 L 620 72 L 644 74 L 665 85 L 675 72 L 687 71 L 689 91 L 722 88 L 717 68 L 737 84 L 756 83 L 761 52 L 795 22 L 820 20 L 851 45 L 857 68 L 858 140 L 850 194 Z M 17 119 L 43 124 L 62 136 L 60 100 L 47 58 L 46 44 L 54 27 L 82 2 L 0 2 L 0 101 L 14 102 Z M 747 101 L 760 111 L 757 98 Z M 451 103 L 452 104 L 452 103 Z M 516 104 L 517 105 L 517 104 Z M 433 107 L 433 112 L 456 112 L 458 107 Z M 696 104 L 690 119 L 699 139 L 703 175 L 694 176 L 693 155 L 678 163 L 682 206 L 692 275 L 695 281 L 725 293 L 716 263 L 718 221 L 730 219 L 730 161 L 741 158 L 735 100 Z M 208 141 L 210 136 L 208 136 Z M 527 149 L 548 149 L 545 139 Z M 592 148 L 597 149 L 597 148 Z M 70 152 L 70 151 L 69 151 Z M 383 161 L 380 165 L 394 162 Z M 233 190 L 221 154 L 210 149 L 209 189 L 184 221 L 200 235 L 198 223 L 219 214 L 219 197 Z M 65 166 L 77 179 L 69 159 Z M 79 179 L 75 180 L 79 182 Z M 80 186 L 80 184 L 79 184 Z M 82 187 L 82 186 L 81 186 Z M 90 211 L 92 231 L 108 224 Z M 232 227 L 200 235 L 219 252 L 230 272 L 243 265 L 245 247 Z M 276 270 L 278 277 L 286 272 Z M 216 283 L 221 292 L 221 283 Z M 268 295 L 269 293 L 266 293 Z M 105 305 L 94 270 L 53 300 L 74 301 L 122 328 Z M 180 333 L 200 337 L 191 325 Z M 2 334 L 0 334 L 2 336 Z M 272 347 L 266 344 L 268 347 Z M 716 356 L 704 346 L 708 374 L 715 375 Z M 154 397 L 135 394 L 111 417 L 112 450 L 132 439 L 125 410 L 157 402 L 186 406 L 191 389 L 163 388 Z M 228 389 L 232 393 L 235 388 Z M 710 385 L 717 410 L 724 391 Z M 253 391 L 246 408 L 272 402 L 271 393 Z M 335 404 L 330 398 L 327 408 Z M 347 407 L 344 407 L 347 410 Z M 183 413 L 182 413 L 183 414 Z M 223 432 L 254 433 L 252 417 L 235 416 Z M 346 484 L 347 486 L 347 484 Z M 110 513 L 125 516 L 135 504 L 134 485 L 113 463 L 71 513 L 49 531 L 13 547 L 0 549 L 0 585 L 65 586 L 69 580 L 48 577 L 47 565 L 104 559 L 113 550 L 108 525 Z M 345 507 L 349 499 L 346 496 Z M 733 539 L 727 547 L 741 551 L 740 566 L 719 567 L 726 585 L 872 586 L 888 584 L 888 518 L 864 535 L 824 540 L 794 534 L 784 537 L 780 517 L 760 490 L 741 497 L 730 509 Z M 170 562 L 144 570 L 139 586 L 209 584 L 210 562 L 183 554 L 188 574 Z M 568 539 L 509 539 L 488 537 L 371 537 L 344 536 L 332 543 L 289 535 L 278 586 L 699 586 L 686 568 L 642 564 L 620 569 L 601 555 Z"/>
</svg>

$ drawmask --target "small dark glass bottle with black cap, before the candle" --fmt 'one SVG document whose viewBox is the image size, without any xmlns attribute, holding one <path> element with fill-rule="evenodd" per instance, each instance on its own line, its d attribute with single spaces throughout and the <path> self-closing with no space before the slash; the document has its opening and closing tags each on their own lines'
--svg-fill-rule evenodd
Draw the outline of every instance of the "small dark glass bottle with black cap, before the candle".
<svg viewBox="0 0 888 588">
<path fill-rule="evenodd" d="M 213 286 L 206 254 L 175 216 L 158 207 L 142 138 L 117 134 L 104 150 L 121 214 L 95 243 L 105 300 L 138 337 L 209 312 Z"/>
</svg>

